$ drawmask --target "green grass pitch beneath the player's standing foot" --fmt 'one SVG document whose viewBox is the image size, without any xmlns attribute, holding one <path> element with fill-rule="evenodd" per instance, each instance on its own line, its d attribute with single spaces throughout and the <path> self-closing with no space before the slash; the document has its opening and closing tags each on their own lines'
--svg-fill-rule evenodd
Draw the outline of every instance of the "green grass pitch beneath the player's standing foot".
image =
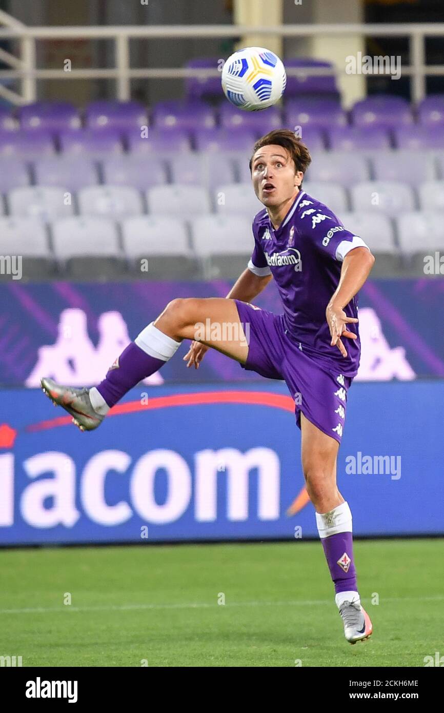
<svg viewBox="0 0 444 713">
<path fill-rule="evenodd" d="M 319 542 L 3 550 L 0 655 L 136 667 L 423 667 L 443 655 L 444 540 L 354 548 L 373 636 L 353 646 Z"/>
</svg>

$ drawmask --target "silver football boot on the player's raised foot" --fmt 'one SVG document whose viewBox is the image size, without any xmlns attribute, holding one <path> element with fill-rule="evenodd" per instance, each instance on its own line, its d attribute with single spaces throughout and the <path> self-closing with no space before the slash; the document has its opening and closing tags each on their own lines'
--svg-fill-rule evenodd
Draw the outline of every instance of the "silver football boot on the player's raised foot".
<svg viewBox="0 0 444 713">
<path fill-rule="evenodd" d="M 89 397 L 89 389 L 75 389 L 73 386 L 61 386 L 53 379 L 43 376 L 40 380 L 43 394 L 51 399 L 54 406 L 61 406 L 73 416 L 73 424 L 81 431 L 93 431 L 102 423 L 105 416 L 94 411 Z"/>
</svg>

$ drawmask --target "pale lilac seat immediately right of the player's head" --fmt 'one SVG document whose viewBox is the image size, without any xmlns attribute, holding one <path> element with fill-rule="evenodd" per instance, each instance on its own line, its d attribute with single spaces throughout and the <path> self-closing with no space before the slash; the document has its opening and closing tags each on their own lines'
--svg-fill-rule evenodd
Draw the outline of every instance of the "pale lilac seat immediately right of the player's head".
<svg viewBox="0 0 444 713">
<path fill-rule="evenodd" d="M 316 153 L 316 160 L 306 172 L 307 181 L 328 181 L 349 186 L 368 180 L 368 160 L 347 151 Z"/>
</svg>

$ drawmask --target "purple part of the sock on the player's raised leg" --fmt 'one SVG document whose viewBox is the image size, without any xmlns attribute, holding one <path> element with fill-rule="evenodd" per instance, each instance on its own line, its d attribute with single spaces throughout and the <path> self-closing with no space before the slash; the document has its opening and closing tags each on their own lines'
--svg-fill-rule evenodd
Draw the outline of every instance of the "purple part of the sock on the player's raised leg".
<svg viewBox="0 0 444 713">
<path fill-rule="evenodd" d="M 142 379 L 154 374 L 164 364 L 166 361 L 155 359 L 131 342 L 126 349 L 123 349 L 113 366 L 110 366 L 105 379 L 100 381 L 96 388 L 108 406 L 114 406 L 127 391 Z"/>
</svg>

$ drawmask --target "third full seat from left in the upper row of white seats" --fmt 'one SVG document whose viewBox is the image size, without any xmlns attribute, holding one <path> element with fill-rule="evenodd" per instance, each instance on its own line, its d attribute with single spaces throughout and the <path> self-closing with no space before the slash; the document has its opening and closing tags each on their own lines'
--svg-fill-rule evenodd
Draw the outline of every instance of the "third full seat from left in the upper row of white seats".
<svg viewBox="0 0 444 713">
<path fill-rule="evenodd" d="M 199 185 L 159 185 L 146 193 L 148 212 L 192 220 L 211 210 L 210 195 Z"/>
</svg>

